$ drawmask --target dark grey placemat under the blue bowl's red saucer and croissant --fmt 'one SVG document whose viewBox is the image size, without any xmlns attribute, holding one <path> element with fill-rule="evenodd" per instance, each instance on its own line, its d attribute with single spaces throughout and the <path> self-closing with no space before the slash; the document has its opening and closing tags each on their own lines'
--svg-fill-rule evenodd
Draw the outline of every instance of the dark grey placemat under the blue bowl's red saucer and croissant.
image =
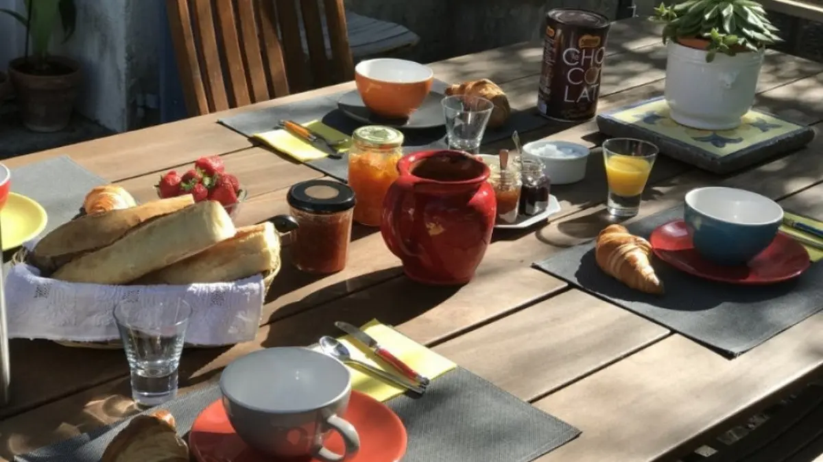
<svg viewBox="0 0 823 462">
<path fill-rule="evenodd" d="M 682 216 L 683 207 L 677 206 L 627 228 L 649 238 L 655 228 Z M 534 266 L 730 358 L 823 309 L 821 264 L 812 264 L 788 282 L 741 286 L 688 275 L 653 258 L 666 290 L 659 297 L 629 289 L 606 275 L 594 260 L 593 242 L 557 253 Z"/>
</svg>

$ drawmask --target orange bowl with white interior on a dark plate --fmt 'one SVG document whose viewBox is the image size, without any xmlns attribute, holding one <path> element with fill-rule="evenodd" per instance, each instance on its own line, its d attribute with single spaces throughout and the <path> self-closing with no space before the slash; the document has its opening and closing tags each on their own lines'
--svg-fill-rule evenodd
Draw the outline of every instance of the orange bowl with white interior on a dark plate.
<svg viewBox="0 0 823 462">
<path fill-rule="evenodd" d="M 369 110 L 385 118 L 407 118 L 423 104 L 435 72 L 405 59 L 378 58 L 355 67 L 355 83 Z"/>
</svg>

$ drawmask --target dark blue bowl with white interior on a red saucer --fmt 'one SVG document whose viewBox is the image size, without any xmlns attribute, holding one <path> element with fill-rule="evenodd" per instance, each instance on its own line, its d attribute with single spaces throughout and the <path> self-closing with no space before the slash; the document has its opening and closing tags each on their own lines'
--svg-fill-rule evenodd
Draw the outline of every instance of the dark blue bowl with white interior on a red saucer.
<svg viewBox="0 0 823 462">
<path fill-rule="evenodd" d="M 755 192 L 700 187 L 686 194 L 683 218 L 700 256 L 733 266 L 769 247 L 783 221 L 783 208 Z"/>
</svg>

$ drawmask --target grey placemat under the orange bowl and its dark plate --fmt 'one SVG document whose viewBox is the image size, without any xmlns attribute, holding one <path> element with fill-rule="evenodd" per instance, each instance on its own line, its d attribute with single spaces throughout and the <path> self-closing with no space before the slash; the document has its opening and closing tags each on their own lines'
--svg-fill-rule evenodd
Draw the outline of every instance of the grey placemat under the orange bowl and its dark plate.
<svg viewBox="0 0 823 462">
<path fill-rule="evenodd" d="M 442 93 L 445 91 L 446 85 L 444 81 L 435 80 L 432 85 L 432 90 Z M 356 128 L 362 127 L 365 123 L 356 121 L 348 117 L 340 109 L 337 109 L 337 100 L 349 91 L 350 90 L 346 90 L 333 95 L 317 96 L 291 104 L 239 113 L 230 118 L 221 118 L 217 122 L 241 135 L 249 136 L 249 138 L 256 133 L 273 130 L 277 122 L 283 119 L 290 119 L 299 123 L 319 119 L 328 125 L 328 127 L 332 127 L 338 132 L 351 135 Z M 542 118 L 536 109 L 513 112 L 504 127 L 487 129 L 482 142 L 486 144 L 493 141 L 504 140 L 509 138 L 515 130 L 521 133 L 529 132 L 549 123 L 551 122 L 546 118 Z M 401 129 L 401 131 L 405 136 L 403 150 L 406 153 L 426 149 L 444 149 L 447 147 L 445 142 L 445 127 L 421 130 Z M 252 141 L 258 144 L 258 146 L 271 149 L 259 141 Z M 324 159 L 310 160 L 305 164 L 312 169 L 319 170 L 343 182 L 348 180 L 348 157 L 346 155 L 343 155 L 341 159 L 331 159 L 327 157 Z"/>
</svg>

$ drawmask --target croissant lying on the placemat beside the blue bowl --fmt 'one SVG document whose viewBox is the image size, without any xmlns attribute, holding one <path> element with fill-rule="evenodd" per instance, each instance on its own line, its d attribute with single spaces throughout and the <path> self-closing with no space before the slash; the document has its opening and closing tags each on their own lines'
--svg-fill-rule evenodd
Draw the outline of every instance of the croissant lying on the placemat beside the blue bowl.
<svg viewBox="0 0 823 462">
<path fill-rule="evenodd" d="M 651 254 L 649 241 L 620 224 L 610 224 L 597 234 L 594 258 L 601 270 L 632 289 L 661 294 L 663 282 L 654 273 Z"/>
</svg>

